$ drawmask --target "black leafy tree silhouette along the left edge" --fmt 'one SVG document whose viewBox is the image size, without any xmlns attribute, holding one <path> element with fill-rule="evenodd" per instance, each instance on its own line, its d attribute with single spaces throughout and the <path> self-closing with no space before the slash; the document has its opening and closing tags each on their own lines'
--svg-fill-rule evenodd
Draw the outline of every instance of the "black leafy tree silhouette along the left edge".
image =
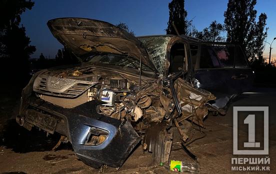
<svg viewBox="0 0 276 174">
<path fill-rule="evenodd" d="M 24 80 L 27 76 L 28 59 L 35 51 L 35 46 L 30 45 L 30 38 L 25 34 L 25 28 L 19 26 L 20 14 L 26 9 L 31 9 L 33 4 L 30 0 L 0 0 L 1 68 L 12 67 L 18 80 Z"/>
</svg>

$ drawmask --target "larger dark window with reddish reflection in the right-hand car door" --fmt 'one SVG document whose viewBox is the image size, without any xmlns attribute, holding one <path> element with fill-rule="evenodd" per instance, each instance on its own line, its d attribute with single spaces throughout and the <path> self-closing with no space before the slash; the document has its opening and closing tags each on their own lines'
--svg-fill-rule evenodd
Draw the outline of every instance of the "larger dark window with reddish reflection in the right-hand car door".
<svg viewBox="0 0 276 174">
<path fill-rule="evenodd" d="M 234 46 L 202 44 L 200 68 L 234 67 Z"/>
</svg>

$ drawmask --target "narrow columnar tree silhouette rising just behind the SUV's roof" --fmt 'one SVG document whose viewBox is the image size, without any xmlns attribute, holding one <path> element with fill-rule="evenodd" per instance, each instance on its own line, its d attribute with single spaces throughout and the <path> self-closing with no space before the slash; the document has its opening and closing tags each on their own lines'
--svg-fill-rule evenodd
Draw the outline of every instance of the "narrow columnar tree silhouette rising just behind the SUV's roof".
<svg viewBox="0 0 276 174">
<path fill-rule="evenodd" d="M 168 3 L 169 18 L 167 22 L 166 33 L 176 35 L 172 25 L 174 23 L 179 34 L 187 34 L 187 11 L 184 9 L 184 0 L 172 0 Z"/>
</svg>

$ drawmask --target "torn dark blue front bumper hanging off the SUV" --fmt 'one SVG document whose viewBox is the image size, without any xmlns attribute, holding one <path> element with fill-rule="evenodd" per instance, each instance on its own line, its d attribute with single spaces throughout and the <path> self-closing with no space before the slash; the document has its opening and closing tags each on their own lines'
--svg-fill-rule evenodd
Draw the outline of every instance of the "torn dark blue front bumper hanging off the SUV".
<svg viewBox="0 0 276 174">
<path fill-rule="evenodd" d="M 121 121 L 97 113 L 100 101 L 92 100 L 74 108 L 62 108 L 35 96 L 21 99 L 16 121 L 25 128 L 39 127 L 67 136 L 76 156 L 85 164 L 119 167 L 141 140 L 129 121 Z M 101 135 L 103 134 L 103 135 Z M 91 136 L 99 137 L 95 142 Z"/>
</svg>

